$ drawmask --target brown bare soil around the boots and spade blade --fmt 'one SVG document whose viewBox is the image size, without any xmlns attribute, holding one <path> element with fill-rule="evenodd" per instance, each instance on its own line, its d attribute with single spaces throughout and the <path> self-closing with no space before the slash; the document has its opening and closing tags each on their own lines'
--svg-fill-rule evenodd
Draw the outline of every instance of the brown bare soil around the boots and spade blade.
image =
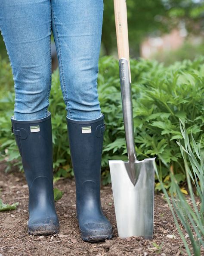
<svg viewBox="0 0 204 256">
<path fill-rule="evenodd" d="M 163 199 L 155 195 L 154 238 L 121 239 L 117 235 L 111 186 L 101 189 L 102 208 L 113 225 L 114 238 L 100 243 L 83 242 L 76 219 L 74 180 L 63 179 L 54 186 L 64 191 L 56 202 L 60 221 L 59 234 L 31 236 L 27 232 L 28 186 L 24 174 L 4 173 L 0 164 L 0 198 L 4 203 L 19 202 L 16 210 L 0 212 L 0 256 L 181 256 L 187 255 L 173 217 Z M 173 235 L 174 238 L 168 235 Z"/>
</svg>

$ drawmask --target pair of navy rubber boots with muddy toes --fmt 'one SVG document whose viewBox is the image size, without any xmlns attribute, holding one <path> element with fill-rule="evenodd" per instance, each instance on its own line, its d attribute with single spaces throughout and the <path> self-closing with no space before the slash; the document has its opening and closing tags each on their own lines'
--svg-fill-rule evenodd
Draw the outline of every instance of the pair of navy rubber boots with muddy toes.
<svg viewBox="0 0 204 256">
<path fill-rule="evenodd" d="M 104 115 L 90 121 L 66 119 L 82 238 L 90 242 L 110 239 L 112 227 L 100 201 Z M 51 114 L 31 121 L 11 117 L 11 122 L 29 188 L 28 233 L 55 234 L 59 232 L 59 220 L 53 193 Z"/>
</svg>

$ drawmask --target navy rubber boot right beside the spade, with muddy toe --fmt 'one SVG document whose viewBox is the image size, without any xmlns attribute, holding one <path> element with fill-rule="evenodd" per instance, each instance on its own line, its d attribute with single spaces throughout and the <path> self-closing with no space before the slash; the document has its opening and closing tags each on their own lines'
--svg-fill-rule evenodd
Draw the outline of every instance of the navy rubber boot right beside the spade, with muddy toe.
<svg viewBox="0 0 204 256">
<path fill-rule="evenodd" d="M 67 126 L 82 239 L 88 242 L 110 239 L 112 226 L 102 212 L 100 199 L 104 115 L 90 121 L 67 117 Z"/>
</svg>

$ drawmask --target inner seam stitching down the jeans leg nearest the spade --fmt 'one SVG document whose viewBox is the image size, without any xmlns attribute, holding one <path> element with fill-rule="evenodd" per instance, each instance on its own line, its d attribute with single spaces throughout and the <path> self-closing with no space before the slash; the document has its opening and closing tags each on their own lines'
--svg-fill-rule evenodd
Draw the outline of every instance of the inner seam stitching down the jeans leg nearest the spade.
<svg viewBox="0 0 204 256">
<path fill-rule="evenodd" d="M 64 94 L 65 94 L 65 104 L 67 103 L 68 112 L 69 112 L 69 115 L 70 115 L 70 118 L 71 118 L 70 105 L 69 105 L 69 102 L 68 102 L 67 91 L 66 91 L 66 87 L 65 87 L 65 76 L 64 76 L 64 72 L 63 72 L 62 54 L 61 54 L 61 48 L 60 48 L 60 44 L 59 44 L 59 35 L 58 35 L 58 30 L 57 30 L 57 27 L 56 27 L 56 23 L 55 23 L 55 16 L 54 16 L 54 11 L 53 11 L 53 5 L 52 5 L 52 3 L 51 3 L 51 10 L 52 10 L 52 17 L 53 17 L 53 26 L 55 27 L 56 36 L 57 36 L 56 40 L 57 40 L 57 42 L 58 42 L 58 50 L 59 50 L 59 71 L 60 71 L 61 76 L 62 76 L 62 86 L 63 86 Z"/>
</svg>

